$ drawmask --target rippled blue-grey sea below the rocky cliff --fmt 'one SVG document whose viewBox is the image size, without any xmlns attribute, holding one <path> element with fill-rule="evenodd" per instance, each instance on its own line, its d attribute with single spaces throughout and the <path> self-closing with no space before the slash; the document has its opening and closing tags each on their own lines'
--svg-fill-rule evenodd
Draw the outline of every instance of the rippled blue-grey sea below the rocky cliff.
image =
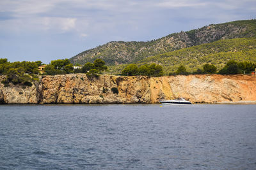
<svg viewBox="0 0 256 170">
<path fill-rule="evenodd" d="M 0 105 L 0 169 L 256 169 L 256 104 Z"/>
</svg>

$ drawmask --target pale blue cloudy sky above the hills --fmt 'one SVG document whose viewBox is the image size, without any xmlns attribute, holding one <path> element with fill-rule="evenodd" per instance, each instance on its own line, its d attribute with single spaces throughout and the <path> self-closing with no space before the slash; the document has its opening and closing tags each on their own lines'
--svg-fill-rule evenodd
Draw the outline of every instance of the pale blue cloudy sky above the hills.
<svg viewBox="0 0 256 170">
<path fill-rule="evenodd" d="M 1 0 L 0 58 L 48 64 L 109 41 L 252 18 L 255 0 Z"/>
</svg>

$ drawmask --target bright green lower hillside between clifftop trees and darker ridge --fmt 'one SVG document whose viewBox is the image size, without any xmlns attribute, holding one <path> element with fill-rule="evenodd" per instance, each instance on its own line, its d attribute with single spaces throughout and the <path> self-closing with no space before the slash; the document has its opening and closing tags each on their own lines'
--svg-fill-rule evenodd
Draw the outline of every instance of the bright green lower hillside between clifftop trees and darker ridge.
<svg viewBox="0 0 256 170">
<path fill-rule="evenodd" d="M 202 69 L 205 63 L 216 65 L 218 69 L 223 67 L 228 60 L 256 62 L 256 38 L 223 39 L 213 43 L 191 46 L 148 57 L 137 62 L 139 65 L 152 62 L 163 66 L 164 73 L 176 71 L 184 64 L 189 72 Z M 125 65 L 109 67 L 112 73 L 120 73 Z"/>
</svg>

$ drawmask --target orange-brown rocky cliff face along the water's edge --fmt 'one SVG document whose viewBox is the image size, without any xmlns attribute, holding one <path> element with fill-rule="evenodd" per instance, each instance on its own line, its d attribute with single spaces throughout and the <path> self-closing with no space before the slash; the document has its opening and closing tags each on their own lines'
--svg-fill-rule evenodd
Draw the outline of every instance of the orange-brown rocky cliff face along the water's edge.
<svg viewBox="0 0 256 170">
<path fill-rule="evenodd" d="M 1 80 L 3 77 L 0 78 Z M 118 94 L 112 88 L 118 89 Z M 32 87 L 0 83 L 0 103 L 159 103 L 185 97 L 192 103 L 256 101 L 256 77 L 248 75 L 42 76 Z"/>
</svg>

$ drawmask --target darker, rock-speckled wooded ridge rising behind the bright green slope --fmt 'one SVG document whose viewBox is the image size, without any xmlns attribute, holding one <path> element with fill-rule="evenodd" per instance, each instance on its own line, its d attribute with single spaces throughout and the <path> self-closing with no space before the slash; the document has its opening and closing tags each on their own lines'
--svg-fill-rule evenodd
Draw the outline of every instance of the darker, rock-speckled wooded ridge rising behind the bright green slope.
<svg viewBox="0 0 256 170">
<path fill-rule="evenodd" d="M 241 20 L 224 24 L 211 24 L 200 29 L 173 33 L 152 41 L 112 41 L 72 57 L 73 64 L 84 64 L 102 59 L 109 66 L 138 62 L 147 57 L 172 52 L 189 46 L 211 43 L 220 39 L 256 36 L 256 20 Z"/>
</svg>

